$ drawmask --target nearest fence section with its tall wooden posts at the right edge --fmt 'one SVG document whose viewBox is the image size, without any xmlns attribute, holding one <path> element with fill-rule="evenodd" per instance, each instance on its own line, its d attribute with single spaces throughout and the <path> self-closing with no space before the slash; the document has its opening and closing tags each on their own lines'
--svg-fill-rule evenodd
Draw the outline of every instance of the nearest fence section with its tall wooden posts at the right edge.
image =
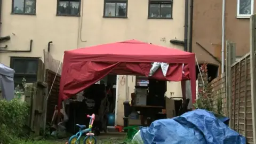
<svg viewBox="0 0 256 144">
<path fill-rule="evenodd" d="M 256 143 L 256 14 L 250 18 L 250 52 L 235 62 L 235 44 L 226 44 L 226 98 L 230 127 Z"/>
</svg>

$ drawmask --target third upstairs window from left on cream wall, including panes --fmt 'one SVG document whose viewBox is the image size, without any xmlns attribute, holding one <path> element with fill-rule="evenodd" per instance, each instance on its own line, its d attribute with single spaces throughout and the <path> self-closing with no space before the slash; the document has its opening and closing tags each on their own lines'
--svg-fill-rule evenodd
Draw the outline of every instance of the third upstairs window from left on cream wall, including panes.
<svg viewBox="0 0 256 144">
<path fill-rule="evenodd" d="M 105 0 L 103 17 L 127 18 L 127 0 Z"/>
</svg>

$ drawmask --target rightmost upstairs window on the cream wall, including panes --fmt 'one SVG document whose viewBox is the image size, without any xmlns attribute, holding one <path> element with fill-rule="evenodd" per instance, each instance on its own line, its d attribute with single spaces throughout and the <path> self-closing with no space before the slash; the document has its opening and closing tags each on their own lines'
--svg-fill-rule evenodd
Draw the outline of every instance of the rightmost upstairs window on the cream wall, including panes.
<svg viewBox="0 0 256 144">
<path fill-rule="evenodd" d="M 149 0 L 149 19 L 172 19 L 172 0 Z"/>
</svg>

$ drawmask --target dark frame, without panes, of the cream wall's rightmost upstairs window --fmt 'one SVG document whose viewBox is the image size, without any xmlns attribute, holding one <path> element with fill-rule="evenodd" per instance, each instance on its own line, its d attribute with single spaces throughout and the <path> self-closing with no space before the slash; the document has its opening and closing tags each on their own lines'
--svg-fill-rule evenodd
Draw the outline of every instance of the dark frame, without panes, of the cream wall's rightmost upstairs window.
<svg viewBox="0 0 256 144">
<path fill-rule="evenodd" d="M 171 17 L 150 17 L 150 4 L 160 4 L 160 14 L 161 14 L 161 4 L 171 4 Z M 148 0 L 148 19 L 173 19 L 173 1 L 172 0 Z"/>
</svg>

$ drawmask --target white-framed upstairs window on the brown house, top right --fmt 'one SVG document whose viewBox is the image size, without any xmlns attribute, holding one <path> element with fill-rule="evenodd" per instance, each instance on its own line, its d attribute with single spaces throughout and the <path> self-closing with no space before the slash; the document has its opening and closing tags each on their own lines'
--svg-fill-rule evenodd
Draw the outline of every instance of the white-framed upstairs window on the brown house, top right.
<svg viewBox="0 0 256 144">
<path fill-rule="evenodd" d="M 237 18 L 250 18 L 254 0 L 237 0 Z"/>
</svg>

